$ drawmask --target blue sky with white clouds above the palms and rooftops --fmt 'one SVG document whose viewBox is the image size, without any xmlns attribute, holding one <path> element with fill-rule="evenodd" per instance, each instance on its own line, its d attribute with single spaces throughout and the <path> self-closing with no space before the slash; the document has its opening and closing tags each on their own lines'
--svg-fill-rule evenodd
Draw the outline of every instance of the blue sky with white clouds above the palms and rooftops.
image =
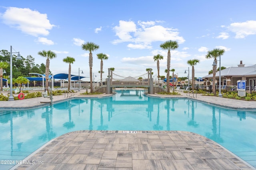
<svg viewBox="0 0 256 170">
<path fill-rule="evenodd" d="M 46 63 L 38 51 L 57 54 L 50 61 L 53 74 L 68 72 L 62 59 L 74 57 L 72 74 L 83 70 L 89 76 L 88 51 L 82 43 L 100 46 L 93 52 L 93 72 L 100 78 L 100 61 L 96 54 L 105 53 L 104 74 L 114 67 L 115 74 L 139 76 L 152 68 L 157 73 L 153 56 L 161 54 L 160 75 L 165 75 L 167 51 L 160 44 L 177 41 L 171 51 L 171 69 L 179 77 L 187 76 L 187 61 L 199 59 L 195 76 L 202 77 L 212 69 L 206 60 L 208 50 L 225 49 L 221 65 L 256 64 L 255 0 L 1 0 L 0 50 L 15 51 L 35 63 Z M 190 67 L 190 70 L 192 68 Z M 191 74 L 190 74 L 191 77 Z M 86 80 L 86 79 L 85 79 Z"/>
</svg>

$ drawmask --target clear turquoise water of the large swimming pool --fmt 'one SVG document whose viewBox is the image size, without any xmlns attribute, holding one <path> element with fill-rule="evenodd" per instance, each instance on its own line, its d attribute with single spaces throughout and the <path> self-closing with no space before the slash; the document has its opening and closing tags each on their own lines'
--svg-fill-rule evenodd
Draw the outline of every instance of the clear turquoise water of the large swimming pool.
<svg viewBox="0 0 256 170">
<path fill-rule="evenodd" d="M 224 109 L 187 99 L 150 98 L 143 93 L 120 90 L 110 98 L 1 111 L 0 160 L 22 160 L 71 131 L 171 130 L 208 137 L 256 167 L 256 111 Z M 0 169 L 9 168 L 11 165 L 0 165 Z"/>
</svg>

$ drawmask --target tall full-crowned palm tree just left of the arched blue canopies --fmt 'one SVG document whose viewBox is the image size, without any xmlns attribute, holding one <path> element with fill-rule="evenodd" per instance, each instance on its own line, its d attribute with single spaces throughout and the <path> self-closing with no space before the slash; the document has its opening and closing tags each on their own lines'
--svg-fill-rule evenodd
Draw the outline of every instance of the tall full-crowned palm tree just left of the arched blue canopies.
<svg viewBox="0 0 256 170">
<path fill-rule="evenodd" d="M 56 53 L 48 50 L 48 51 L 39 51 L 38 55 L 42 57 L 46 57 L 46 66 L 45 66 L 45 88 L 48 91 L 49 89 L 49 72 L 50 72 L 50 59 L 56 58 Z"/>
</svg>

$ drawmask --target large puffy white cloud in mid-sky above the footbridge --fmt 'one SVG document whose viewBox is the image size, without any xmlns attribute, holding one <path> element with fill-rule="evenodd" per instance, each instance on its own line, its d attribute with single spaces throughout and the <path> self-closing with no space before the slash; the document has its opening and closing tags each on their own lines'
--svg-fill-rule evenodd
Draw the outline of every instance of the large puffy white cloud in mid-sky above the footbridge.
<svg viewBox="0 0 256 170">
<path fill-rule="evenodd" d="M 112 43 L 132 42 L 129 44 L 130 48 L 144 48 L 150 49 L 151 43 L 155 41 L 173 40 L 178 43 L 184 43 L 183 37 L 179 36 L 177 29 L 166 28 L 161 25 L 155 25 L 160 21 L 138 21 L 138 25 L 134 21 L 119 21 L 119 25 L 113 29 L 119 39 L 114 40 Z"/>
</svg>

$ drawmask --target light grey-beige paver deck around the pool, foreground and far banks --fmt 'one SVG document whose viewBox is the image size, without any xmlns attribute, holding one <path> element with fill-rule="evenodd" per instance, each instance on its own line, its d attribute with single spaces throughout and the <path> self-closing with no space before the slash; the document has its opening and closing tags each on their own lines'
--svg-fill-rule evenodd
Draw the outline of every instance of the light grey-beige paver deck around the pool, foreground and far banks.
<svg viewBox="0 0 256 170">
<path fill-rule="evenodd" d="M 81 90 L 80 93 L 84 92 Z M 160 98 L 190 98 L 185 93 Z M 103 98 L 108 95 L 96 95 Z M 75 93 L 71 98 L 84 98 Z M 86 96 L 91 98 L 92 96 Z M 68 98 L 69 99 L 69 98 Z M 191 99 L 191 98 L 190 98 Z M 53 103 L 66 100 L 53 96 Z M 256 109 L 256 101 L 197 95 L 193 99 L 233 109 Z M 0 109 L 26 109 L 44 105 L 49 98 L 1 101 Z M 42 103 L 41 103 L 42 102 Z M 131 131 L 132 132 L 132 131 Z M 90 170 L 161 170 L 161 169 L 254 169 L 218 143 L 201 135 L 184 131 L 74 131 L 66 133 L 36 150 L 24 160 L 39 161 L 21 164 L 12 169 L 90 169 Z M 42 164 L 43 162 L 43 164 Z M 41 164 L 40 164 L 41 163 Z"/>
</svg>

